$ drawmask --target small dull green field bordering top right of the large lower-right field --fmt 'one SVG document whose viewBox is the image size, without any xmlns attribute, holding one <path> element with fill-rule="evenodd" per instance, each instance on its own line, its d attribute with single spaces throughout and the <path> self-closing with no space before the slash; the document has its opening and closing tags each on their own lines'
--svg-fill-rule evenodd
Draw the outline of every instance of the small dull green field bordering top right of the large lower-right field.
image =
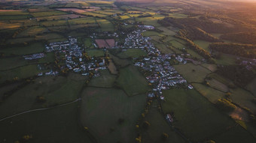
<svg viewBox="0 0 256 143">
<path fill-rule="evenodd" d="M 209 101 L 212 103 L 216 103 L 217 100 L 224 98 L 224 93 L 221 91 L 217 91 L 214 88 L 211 88 L 209 86 L 200 84 L 200 83 L 194 83 L 194 88 L 197 89 L 197 91 L 202 94 L 204 97 L 206 97 Z"/>
</svg>

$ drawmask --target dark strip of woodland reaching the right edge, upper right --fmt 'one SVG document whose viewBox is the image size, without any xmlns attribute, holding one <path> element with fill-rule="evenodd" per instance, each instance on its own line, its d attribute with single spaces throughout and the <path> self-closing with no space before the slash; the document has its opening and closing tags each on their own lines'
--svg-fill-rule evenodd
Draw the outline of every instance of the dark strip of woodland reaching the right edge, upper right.
<svg viewBox="0 0 256 143">
<path fill-rule="evenodd" d="M 256 58 L 256 46 L 239 43 L 211 43 L 209 48 L 231 55 L 238 55 L 245 58 Z"/>
</svg>

